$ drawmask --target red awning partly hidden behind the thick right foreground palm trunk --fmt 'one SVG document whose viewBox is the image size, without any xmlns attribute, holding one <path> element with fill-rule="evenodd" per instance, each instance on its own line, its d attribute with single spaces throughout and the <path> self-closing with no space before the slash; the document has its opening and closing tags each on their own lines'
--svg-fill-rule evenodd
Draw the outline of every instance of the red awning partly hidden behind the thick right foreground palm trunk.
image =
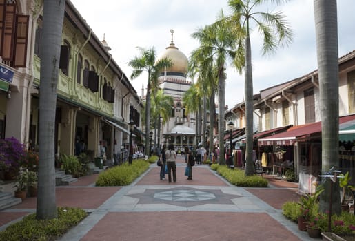
<svg viewBox="0 0 355 241">
<path fill-rule="evenodd" d="M 355 114 L 350 116 L 341 116 L 339 118 L 339 124 L 355 119 Z M 309 123 L 305 125 L 296 125 L 290 127 L 286 132 L 281 132 L 274 136 L 268 136 L 258 139 L 258 145 L 293 145 L 297 138 L 304 138 L 311 134 L 322 131 L 321 121 L 315 123 Z"/>
</svg>

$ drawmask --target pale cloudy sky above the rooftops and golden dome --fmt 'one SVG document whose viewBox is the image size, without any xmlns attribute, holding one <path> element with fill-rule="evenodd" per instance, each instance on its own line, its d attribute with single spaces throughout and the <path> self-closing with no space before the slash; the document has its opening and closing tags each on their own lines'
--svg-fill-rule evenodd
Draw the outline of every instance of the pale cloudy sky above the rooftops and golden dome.
<svg viewBox="0 0 355 241">
<path fill-rule="evenodd" d="M 210 25 L 223 10 L 230 14 L 227 0 L 71 0 L 97 37 L 110 45 L 110 54 L 128 78 L 127 63 L 139 56 L 136 47 L 152 48 L 159 57 L 171 41 L 187 58 L 199 42 L 191 37 L 197 28 Z M 98 4 L 99 3 L 99 4 Z M 338 53 L 355 50 L 354 0 L 338 0 Z M 316 34 L 312 0 L 293 0 L 282 6 L 263 6 L 263 12 L 282 11 L 294 32 L 290 45 L 274 54 L 261 55 L 262 39 L 255 29 L 251 35 L 254 94 L 317 69 Z M 244 101 L 244 76 L 227 63 L 225 104 L 229 108 Z M 141 96 L 148 76 L 131 80 Z"/>
</svg>

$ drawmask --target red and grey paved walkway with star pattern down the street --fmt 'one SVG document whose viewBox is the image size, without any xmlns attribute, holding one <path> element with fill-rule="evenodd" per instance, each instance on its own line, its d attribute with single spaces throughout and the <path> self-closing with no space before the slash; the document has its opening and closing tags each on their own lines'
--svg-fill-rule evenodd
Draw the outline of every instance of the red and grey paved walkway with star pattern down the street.
<svg viewBox="0 0 355 241">
<path fill-rule="evenodd" d="M 297 184 L 270 179 L 267 188 L 235 187 L 207 165 L 177 182 L 159 179 L 150 169 L 132 185 L 94 187 L 96 175 L 57 187 L 57 205 L 81 207 L 90 215 L 60 240 L 312 240 L 284 218 L 281 205 L 298 200 Z M 36 208 L 36 198 L 0 212 L 0 231 Z"/>
</svg>

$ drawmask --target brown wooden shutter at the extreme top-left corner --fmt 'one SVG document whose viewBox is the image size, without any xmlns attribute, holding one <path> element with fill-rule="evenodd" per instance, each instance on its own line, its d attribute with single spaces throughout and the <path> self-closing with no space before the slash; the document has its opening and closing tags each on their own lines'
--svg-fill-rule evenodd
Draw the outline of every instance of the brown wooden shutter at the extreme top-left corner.
<svg viewBox="0 0 355 241">
<path fill-rule="evenodd" d="M 3 6 L 5 14 L 3 14 L 1 28 L 1 56 L 4 61 L 12 61 L 13 43 L 14 43 L 14 22 L 16 14 L 15 4 L 6 4 Z"/>
</svg>

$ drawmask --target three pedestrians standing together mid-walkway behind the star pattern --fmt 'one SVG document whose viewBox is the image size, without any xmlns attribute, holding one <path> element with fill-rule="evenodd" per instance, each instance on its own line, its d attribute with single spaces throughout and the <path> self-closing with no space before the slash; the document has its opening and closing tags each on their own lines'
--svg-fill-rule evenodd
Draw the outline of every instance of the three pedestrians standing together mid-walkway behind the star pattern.
<svg viewBox="0 0 355 241">
<path fill-rule="evenodd" d="M 174 150 L 174 145 L 170 144 L 168 149 L 166 145 L 163 145 L 163 149 L 160 154 L 161 169 L 160 169 L 160 180 L 165 180 L 165 165 L 168 167 L 168 181 L 176 182 L 176 151 Z M 187 166 L 187 180 L 192 180 L 192 166 L 194 165 L 193 155 L 189 147 L 185 147 L 185 160 Z"/>
</svg>

